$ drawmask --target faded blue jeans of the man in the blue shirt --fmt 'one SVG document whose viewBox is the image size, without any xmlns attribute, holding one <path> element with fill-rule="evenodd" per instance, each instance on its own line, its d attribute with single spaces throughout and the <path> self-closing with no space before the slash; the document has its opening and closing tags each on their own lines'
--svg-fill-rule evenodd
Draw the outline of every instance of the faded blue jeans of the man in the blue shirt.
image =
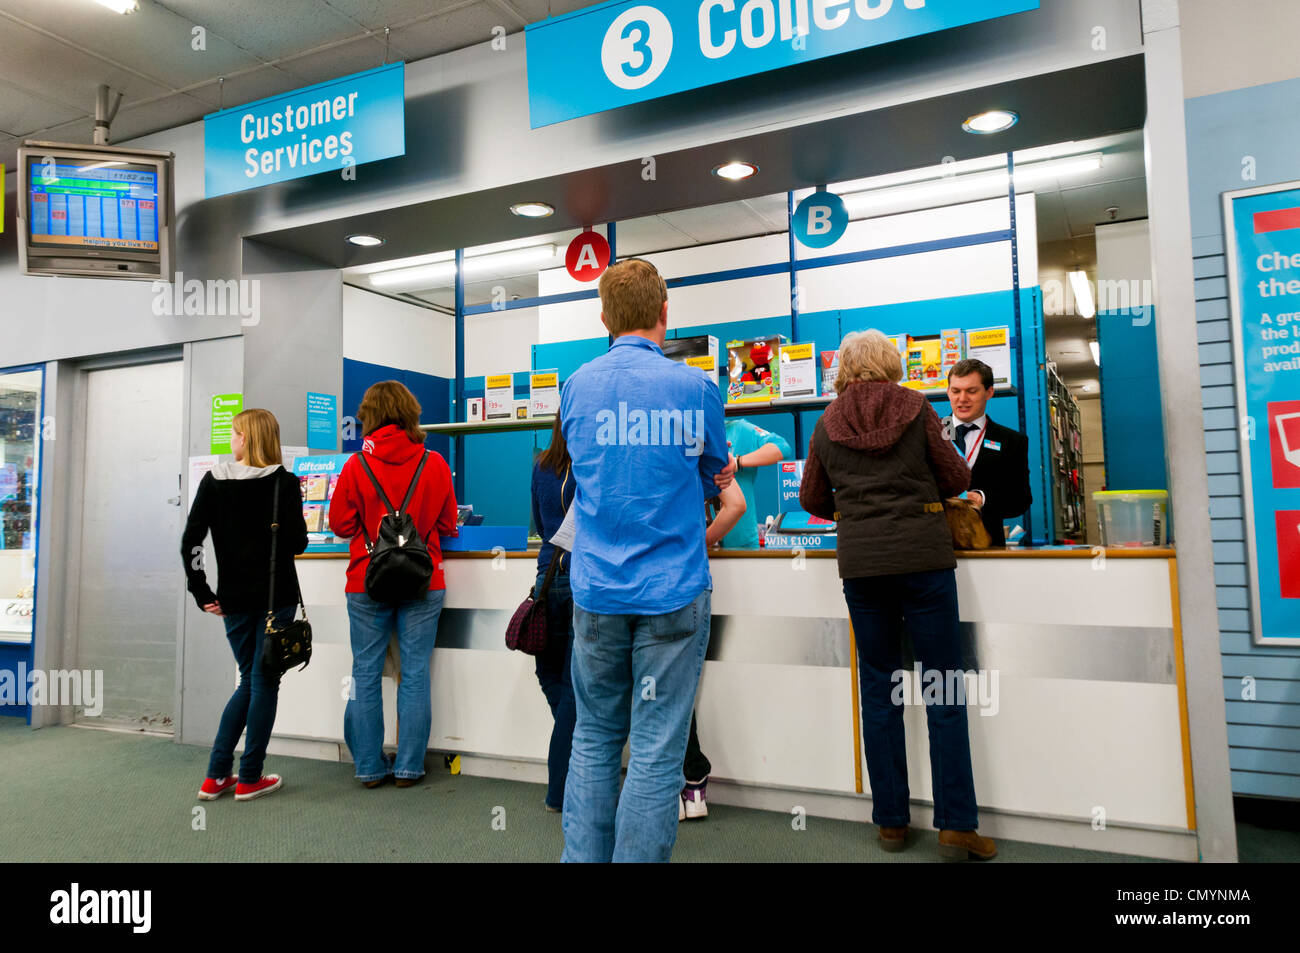
<svg viewBox="0 0 1300 953">
<path fill-rule="evenodd" d="M 598 615 L 573 606 L 577 724 L 564 790 L 563 861 L 672 857 L 711 595 L 705 589 L 662 615 Z M 625 742 L 632 755 L 620 796 Z"/>
</svg>

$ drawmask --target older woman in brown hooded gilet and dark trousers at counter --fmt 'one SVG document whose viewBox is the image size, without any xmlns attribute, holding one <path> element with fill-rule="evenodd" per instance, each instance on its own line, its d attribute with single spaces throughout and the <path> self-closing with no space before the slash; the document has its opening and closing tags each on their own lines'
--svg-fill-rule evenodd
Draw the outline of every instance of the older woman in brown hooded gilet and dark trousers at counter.
<svg viewBox="0 0 1300 953">
<path fill-rule="evenodd" d="M 836 399 L 812 433 L 800 502 L 838 527 L 837 559 L 858 646 L 862 741 L 872 820 L 885 850 L 906 842 L 907 755 L 896 686 L 906 625 L 923 683 L 965 684 L 957 618 L 957 559 L 945 497 L 970 486 L 970 471 L 942 433 L 930 402 L 898 386 L 902 363 L 876 330 L 840 345 Z M 989 858 L 997 848 L 975 832 L 975 783 L 965 698 L 926 692 L 935 827 L 953 859 Z"/>
</svg>

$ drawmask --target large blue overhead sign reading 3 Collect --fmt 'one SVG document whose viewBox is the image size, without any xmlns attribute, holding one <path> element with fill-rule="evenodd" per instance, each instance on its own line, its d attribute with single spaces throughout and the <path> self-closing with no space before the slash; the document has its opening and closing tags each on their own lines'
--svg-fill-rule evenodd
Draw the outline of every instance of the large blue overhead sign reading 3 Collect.
<svg viewBox="0 0 1300 953">
<path fill-rule="evenodd" d="M 850 49 L 1039 8 L 1039 0 L 611 0 L 530 23 L 533 129 Z"/>
</svg>

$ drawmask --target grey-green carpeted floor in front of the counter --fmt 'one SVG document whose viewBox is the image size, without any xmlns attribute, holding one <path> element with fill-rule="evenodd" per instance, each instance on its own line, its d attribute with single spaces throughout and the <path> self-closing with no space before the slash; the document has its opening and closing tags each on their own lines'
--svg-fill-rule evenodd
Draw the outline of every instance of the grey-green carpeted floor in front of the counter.
<svg viewBox="0 0 1300 953">
<path fill-rule="evenodd" d="M 73 727 L 34 732 L 0 718 L 0 857 L 551 862 L 563 848 L 560 818 L 543 810 L 537 784 L 452 776 L 439 763 L 415 788 L 367 790 L 351 764 L 272 757 L 268 770 L 285 777 L 280 792 L 244 803 L 229 794 L 200 802 L 207 759 L 207 749 L 168 738 Z M 1300 835 L 1286 844 L 1277 832 L 1258 833 L 1268 854 L 1260 859 L 1300 857 Z M 673 859 L 924 863 L 940 859 L 933 836 L 923 832 L 907 850 L 885 854 L 870 824 L 809 818 L 807 829 L 794 831 L 783 814 L 714 805 L 707 820 L 681 826 Z M 1251 842 L 1243 837 L 1243 859 Z M 1143 859 L 1015 841 L 998 849 L 998 863 Z"/>
</svg>

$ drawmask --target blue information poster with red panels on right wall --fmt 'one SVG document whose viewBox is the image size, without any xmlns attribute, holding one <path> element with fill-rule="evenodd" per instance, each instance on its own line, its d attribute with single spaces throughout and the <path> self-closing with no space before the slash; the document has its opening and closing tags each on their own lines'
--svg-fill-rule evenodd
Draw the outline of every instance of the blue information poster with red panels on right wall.
<svg viewBox="0 0 1300 953">
<path fill-rule="evenodd" d="M 1254 641 L 1300 645 L 1300 182 L 1223 194 Z"/>
</svg>

